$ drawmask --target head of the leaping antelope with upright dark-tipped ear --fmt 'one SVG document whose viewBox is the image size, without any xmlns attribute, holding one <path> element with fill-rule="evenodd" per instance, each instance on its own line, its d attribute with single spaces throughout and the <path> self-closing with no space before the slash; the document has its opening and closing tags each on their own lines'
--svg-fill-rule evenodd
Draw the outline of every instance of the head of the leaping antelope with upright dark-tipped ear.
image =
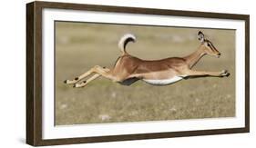
<svg viewBox="0 0 256 148">
<path fill-rule="evenodd" d="M 210 40 L 206 39 L 202 32 L 200 31 L 198 34 L 200 40 L 200 47 L 205 54 L 213 55 L 216 57 L 220 57 L 220 52 L 215 48 L 215 46 L 210 42 Z"/>
</svg>

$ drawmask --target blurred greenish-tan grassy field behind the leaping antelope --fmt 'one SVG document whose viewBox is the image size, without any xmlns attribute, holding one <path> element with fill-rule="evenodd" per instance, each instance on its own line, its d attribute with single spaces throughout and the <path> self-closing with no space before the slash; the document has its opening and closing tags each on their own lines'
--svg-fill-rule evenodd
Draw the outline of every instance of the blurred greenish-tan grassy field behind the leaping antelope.
<svg viewBox="0 0 256 148">
<path fill-rule="evenodd" d="M 167 86 L 138 81 L 124 86 L 98 78 L 84 88 L 64 84 L 94 65 L 112 67 L 118 39 L 132 33 L 128 53 L 154 60 L 194 52 L 201 30 L 221 56 L 205 56 L 193 69 L 229 77 L 182 80 Z M 56 22 L 56 124 L 117 123 L 235 116 L 235 31 Z"/>
</svg>

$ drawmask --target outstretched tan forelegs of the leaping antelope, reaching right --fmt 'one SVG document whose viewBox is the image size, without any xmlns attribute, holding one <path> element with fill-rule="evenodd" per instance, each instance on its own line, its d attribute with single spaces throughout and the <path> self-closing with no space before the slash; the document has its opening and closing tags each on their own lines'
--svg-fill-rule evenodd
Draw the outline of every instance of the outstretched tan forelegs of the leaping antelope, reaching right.
<svg viewBox="0 0 256 148">
<path fill-rule="evenodd" d="M 223 77 L 223 76 L 229 76 L 230 73 L 227 70 L 223 70 L 221 72 L 204 72 L 204 71 L 189 70 L 188 72 L 186 72 L 186 75 L 188 75 L 188 76 L 217 76 L 217 77 Z"/>
</svg>

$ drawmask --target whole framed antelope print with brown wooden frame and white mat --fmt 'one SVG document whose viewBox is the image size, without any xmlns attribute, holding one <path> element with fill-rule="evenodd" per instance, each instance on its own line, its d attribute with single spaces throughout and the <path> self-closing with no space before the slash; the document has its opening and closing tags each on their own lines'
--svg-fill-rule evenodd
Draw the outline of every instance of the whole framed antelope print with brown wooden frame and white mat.
<svg viewBox="0 0 256 148">
<path fill-rule="evenodd" d="M 26 143 L 248 133 L 250 16 L 26 5 Z"/>
</svg>

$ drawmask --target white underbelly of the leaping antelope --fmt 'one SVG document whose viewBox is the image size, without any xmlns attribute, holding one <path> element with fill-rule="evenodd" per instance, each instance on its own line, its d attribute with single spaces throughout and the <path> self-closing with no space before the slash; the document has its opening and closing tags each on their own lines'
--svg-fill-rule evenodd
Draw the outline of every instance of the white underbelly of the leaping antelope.
<svg viewBox="0 0 256 148">
<path fill-rule="evenodd" d="M 155 84 L 155 85 L 167 85 L 167 84 L 173 84 L 180 80 L 182 80 L 184 76 L 174 76 L 169 79 L 162 79 L 162 80 L 150 80 L 150 79 L 142 79 L 148 84 Z"/>
</svg>

